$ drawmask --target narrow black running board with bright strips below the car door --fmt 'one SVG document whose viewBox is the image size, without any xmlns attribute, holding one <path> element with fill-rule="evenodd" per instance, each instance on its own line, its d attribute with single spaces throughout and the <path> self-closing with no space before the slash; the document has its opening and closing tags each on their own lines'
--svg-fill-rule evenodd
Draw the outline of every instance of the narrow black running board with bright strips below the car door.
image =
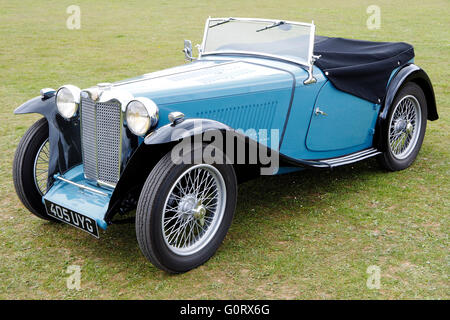
<svg viewBox="0 0 450 320">
<path fill-rule="evenodd" d="M 382 153 L 381 151 L 378 151 L 375 148 L 369 148 L 342 157 L 321 159 L 321 160 L 303 160 L 303 159 L 297 160 L 286 156 L 284 156 L 283 158 L 284 161 L 295 166 L 332 169 L 334 167 L 339 167 L 346 164 L 358 162 L 364 159 L 368 159 L 371 157 L 375 157 L 381 153 Z"/>
</svg>

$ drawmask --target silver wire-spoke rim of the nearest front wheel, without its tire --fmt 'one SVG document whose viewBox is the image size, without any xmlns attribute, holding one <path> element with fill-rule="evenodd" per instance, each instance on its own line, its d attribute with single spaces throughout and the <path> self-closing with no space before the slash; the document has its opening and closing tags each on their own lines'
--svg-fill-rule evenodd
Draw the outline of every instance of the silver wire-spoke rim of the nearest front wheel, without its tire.
<svg viewBox="0 0 450 320">
<path fill-rule="evenodd" d="M 225 204 L 225 181 L 214 166 L 199 164 L 184 171 L 164 205 L 162 233 L 166 245 L 178 255 L 201 250 L 219 228 Z"/>
</svg>

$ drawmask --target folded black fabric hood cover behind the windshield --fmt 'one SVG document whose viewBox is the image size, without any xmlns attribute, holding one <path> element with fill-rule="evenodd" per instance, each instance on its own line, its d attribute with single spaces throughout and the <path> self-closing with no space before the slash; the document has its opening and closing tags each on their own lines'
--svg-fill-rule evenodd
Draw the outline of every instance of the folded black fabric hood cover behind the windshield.
<svg viewBox="0 0 450 320">
<path fill-rule="evenodd" d="M 372 42 L 316 36 L 315 63 L 339 90 L 380 103 L 392 71 L 414 58 L 404 42 Z"/>
</svg>

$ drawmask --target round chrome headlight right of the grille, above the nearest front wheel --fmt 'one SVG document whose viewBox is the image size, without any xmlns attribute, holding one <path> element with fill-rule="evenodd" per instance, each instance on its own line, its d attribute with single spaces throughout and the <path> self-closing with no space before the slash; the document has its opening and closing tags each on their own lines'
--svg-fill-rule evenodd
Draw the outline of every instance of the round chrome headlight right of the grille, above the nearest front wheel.
<svg viewBox="0 0 450 320">
<path fill-rule="evenodd" d="M 131 132 L 143 136 L 158 123 L 159 109 L 148 98 L 136 98 L 128 103 L 125 116 Z"/>
</svg>

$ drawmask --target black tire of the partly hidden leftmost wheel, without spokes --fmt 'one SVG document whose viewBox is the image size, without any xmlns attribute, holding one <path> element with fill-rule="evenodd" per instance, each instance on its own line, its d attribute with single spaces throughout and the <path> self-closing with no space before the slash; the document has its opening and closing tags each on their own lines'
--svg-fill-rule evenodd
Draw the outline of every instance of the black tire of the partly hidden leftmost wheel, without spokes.
<svg viewBox="0 0 450 320">
<path fill-rule="evenodd" d="M 41 146 L 48 139 L 47 119 L 36 121 L 28 130 L 17 146 L 13 163 L 13 180 L 17 196 L 23 205 L 35 216 L 56 221 L 47 215 L 42 194 L 35 184 L 34 164 Z"/>
</svg>

